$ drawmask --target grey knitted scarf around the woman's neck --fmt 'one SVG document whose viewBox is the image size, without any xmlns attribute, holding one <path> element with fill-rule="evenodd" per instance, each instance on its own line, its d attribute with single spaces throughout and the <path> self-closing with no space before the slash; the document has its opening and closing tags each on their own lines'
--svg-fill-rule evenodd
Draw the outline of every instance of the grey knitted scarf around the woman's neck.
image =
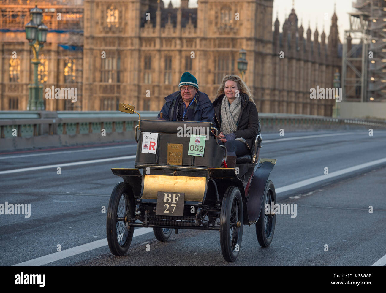
<svg viewBox="0 0 386 293">
<path fill-rule="evenodd" d="M 241 98 L 236 97 L 232 104 L 229 105 L 228 98 L 225 96 L 221 103 L 221 129 L 224 135 L 231 134 L 237 130 L 237 120 L 241 111 Z M 235 139 L 245 143 L 245 139 L 240 137 Z"/>
</svg>

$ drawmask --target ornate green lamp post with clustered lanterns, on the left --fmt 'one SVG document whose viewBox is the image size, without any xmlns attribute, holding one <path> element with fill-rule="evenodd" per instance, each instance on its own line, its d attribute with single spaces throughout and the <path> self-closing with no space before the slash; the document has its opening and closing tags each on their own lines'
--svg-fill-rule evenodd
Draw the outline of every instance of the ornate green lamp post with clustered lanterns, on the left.
<svg viewBox="0 0 386 293">
<path fill-rule="evenodd" d="M 47 41 L 47 27 L 42 24 L 43 11 L 37 6 L 30 11 L 31 21 L 25 25 L 25 37 L 32 48 L 34 58 L 31 63 L 34 64 L 34 83 L 28 85 L 28 106 L 27 110 L 44 110 L 43 86 L 39 86 L 37 80 L 37 68 L 40 63 L 39 51 Z"/>
</svg>

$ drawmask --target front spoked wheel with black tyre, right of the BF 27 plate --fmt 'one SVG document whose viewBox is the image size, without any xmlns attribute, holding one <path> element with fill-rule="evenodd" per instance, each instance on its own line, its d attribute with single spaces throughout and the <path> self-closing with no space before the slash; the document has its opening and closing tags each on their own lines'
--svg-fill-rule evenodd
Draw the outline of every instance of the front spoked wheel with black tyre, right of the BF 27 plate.
<svg viewBox="0 0 386 293">
<path fill-rule="evenodd" d="M 240 190 L 236 186 L 230 186 L 225 191 L 220 212 L 220 245 L 222 256 L 226 261 L 233 262 L 239 255 L 243 224 L 244 212 Z"/>
</svg>

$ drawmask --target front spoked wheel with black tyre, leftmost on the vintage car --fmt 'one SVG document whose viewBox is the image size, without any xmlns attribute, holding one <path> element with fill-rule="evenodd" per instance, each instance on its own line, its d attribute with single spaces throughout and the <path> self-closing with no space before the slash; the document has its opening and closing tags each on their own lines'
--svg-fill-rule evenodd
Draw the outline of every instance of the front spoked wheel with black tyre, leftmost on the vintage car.
<svg viewBox="0 0 386 293">
<path fill-rule="evenodd" d="M 127 252 L 134 233 L 134 227 L 130 227 L 123 221 L 118 221 L 117 218 L 124 218 L 126 215 L 129 218 L 134 218 L 134 213 L 135 204 L 132 189 L 127 183 L 120 182 L 115 185 L 111 193 L 106 221 L 108 248 L 116 256 L 123 256 Z"/>
</svg>

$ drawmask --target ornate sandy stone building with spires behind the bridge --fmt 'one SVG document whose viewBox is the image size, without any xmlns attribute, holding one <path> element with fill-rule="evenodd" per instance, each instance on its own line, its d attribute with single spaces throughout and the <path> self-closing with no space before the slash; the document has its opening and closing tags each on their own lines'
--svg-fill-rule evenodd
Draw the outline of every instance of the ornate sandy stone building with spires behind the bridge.
<svg viewBox="0 0 386 293">
<path fill-rule="evenodd" d="M 23 0 L 0 4 L 0 110 L 25 110 L 33 73 L 23 29 L 33 5 Z M 188 8 L 188 0 L 179 7 L 160 0 L 37 5 L 49 28 L 39 80 L 44 88 L 78 88 L 76 103 L 44 99 L 46 110 L 117 110 L 119 102 L 159 110 L 164 97 L 178 90 L 185 71 L 213 100 L 223 76 L 239 74 L 243 48 L 244 80 L 259 112 L 332 113 L 334 101 L 310 99 L 310 88 L 332 88 L 334 72 L 340 70 L 335 13 L 327 40 L 315 31 L 311 41 L 311 30 L 304 36 L 294 10 L 283 32 L 278 19 L 273 27 L 273 0 L 198 0 L 196 8 Z"/>
</svg>

